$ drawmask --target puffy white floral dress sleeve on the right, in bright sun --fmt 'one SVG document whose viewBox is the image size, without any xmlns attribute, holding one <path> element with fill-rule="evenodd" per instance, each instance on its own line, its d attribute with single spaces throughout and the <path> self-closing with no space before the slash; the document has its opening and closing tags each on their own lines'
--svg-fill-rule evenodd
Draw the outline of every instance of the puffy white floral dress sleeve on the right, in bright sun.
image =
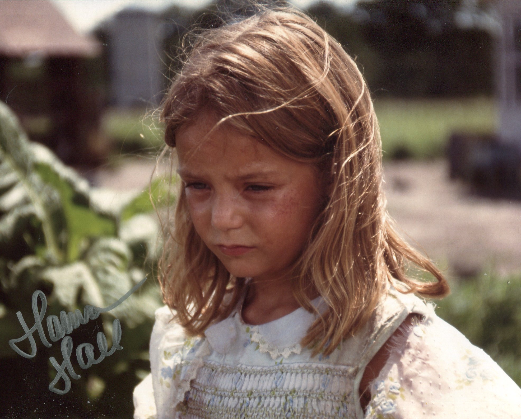
<svg viewBox="0 0 521 419">
<path fill-rule="evenodd" d="M 365 419 L 521 417 L 521 389 L 454 327 L 433 315 L 401 332 L 371 385 Z"/>
</svg>

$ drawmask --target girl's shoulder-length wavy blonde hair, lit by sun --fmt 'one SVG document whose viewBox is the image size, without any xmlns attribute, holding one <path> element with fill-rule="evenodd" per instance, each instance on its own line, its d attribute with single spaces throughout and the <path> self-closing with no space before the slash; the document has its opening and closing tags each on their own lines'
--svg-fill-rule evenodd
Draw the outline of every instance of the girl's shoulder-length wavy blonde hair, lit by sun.
<svg viewBox="0 0 521 419">
<path fill-rule="evenodd" d="M 175 159 L 176 132 L 207 110 L 218 116 L 214 129 L 225 123 L 329 177 L 330 197 L 290 267 L 302 307 L 315 310 L 313 292 L 327 303 L 302 346 L 331 353 L 370 319 L 390 285 L 425 297 L 449 293 L 436 266 L 393 228 L 370 92 L 353 59 L 312 18 L 263 8 L 196 34 L 161 106 L 164 153 Z M 202 335 L 230 314 L 245 278 L 230 274 L 196 233 L 182 184 L 170 221 L 158 266 L 163 298 L 189 335 Z M 435 281 L 409 277 L 411 265 Z"/>
</svg>

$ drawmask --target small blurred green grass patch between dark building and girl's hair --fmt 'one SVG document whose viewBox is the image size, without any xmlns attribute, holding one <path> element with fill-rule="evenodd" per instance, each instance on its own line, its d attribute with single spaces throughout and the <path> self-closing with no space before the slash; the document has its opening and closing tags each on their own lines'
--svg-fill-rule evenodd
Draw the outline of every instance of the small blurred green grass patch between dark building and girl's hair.
<svg viewBox="0 0 521 419">
<path fill-rule="evenodd" d="M 110 109 L 102 130 L 117 155 L 155 153 L 164 144 L 163 126 L 145 109 Z"/>
</svg>

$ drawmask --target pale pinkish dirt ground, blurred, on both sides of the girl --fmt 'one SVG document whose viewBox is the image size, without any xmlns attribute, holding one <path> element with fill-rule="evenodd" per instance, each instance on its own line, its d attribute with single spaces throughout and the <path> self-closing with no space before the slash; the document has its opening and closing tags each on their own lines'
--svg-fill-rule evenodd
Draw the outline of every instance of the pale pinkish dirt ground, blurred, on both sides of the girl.
<svg viewBox="0 0 521 419">
<path fill-rule="evenodd" d="M 89 177 L 96 186 L 142 189 L 154 165 L 133 158 Z M 521 202 L 473 196 L 448 173 L 444 160 L 385 164 L 388 210 L 399 233 L 449 276 L 521 273 Z"/>
</svg>

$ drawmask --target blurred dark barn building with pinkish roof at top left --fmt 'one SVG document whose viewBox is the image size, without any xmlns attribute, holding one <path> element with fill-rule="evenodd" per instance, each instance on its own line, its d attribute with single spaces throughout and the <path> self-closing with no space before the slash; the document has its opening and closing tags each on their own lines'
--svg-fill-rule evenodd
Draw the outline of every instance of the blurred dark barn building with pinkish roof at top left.
<svg viewBox="0 0 521 419">
<path fill-rule="evenodd" d="M 67 164 L 95 164 L 104 153 L 100 52 L 52 2 L 0 2 L 0 100 Z"/>
</svg>

